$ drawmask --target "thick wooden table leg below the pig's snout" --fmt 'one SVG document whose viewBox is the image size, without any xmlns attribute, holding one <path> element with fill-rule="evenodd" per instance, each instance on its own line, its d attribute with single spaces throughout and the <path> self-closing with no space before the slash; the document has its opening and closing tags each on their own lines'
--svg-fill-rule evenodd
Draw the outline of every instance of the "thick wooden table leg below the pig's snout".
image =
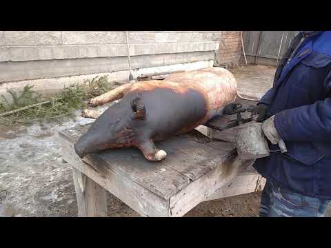
<svg viewBox="0 0 331 248">
<path fill-rule="evenodd" d="M 72 177 L 77 196 L 78 216 L 106 217 L 106 190 L 74 167 L 72 167 Z"/>
</svg>

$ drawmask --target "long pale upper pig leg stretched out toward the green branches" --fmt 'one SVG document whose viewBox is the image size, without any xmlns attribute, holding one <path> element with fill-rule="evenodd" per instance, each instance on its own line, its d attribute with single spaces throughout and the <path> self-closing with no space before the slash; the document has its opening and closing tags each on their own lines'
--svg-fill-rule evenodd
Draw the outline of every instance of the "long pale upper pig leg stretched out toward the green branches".
<svg viewBox="0 0 331 248">
<path fill-rule="evenodd" d="M 119 100 L 123 98 L 123 96 L 125 96 L 128 91 L 130 91 L 132 85 L 133 83 L 126 83 L 125 85 L 121 85 L 114 90 L 110 90 L 109 92 L 90 99 L 88 104 L 91 107 L 97 107 L 111 101 Z"/>
</svg>

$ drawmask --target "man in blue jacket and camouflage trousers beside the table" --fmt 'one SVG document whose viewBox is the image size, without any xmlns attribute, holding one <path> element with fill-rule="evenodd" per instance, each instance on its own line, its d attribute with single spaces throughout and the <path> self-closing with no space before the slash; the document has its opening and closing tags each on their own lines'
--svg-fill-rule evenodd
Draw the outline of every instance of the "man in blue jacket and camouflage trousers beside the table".
<svg viewBox="0 0 331 248">
<path fill-rule="evenodd" d="M 254 163 L 267 179 L 260 216 L 325 215 L 331 200 L 330 97 L 331 31 L 299 32 L 254 109 L 272 151 Z"/>
</svg>

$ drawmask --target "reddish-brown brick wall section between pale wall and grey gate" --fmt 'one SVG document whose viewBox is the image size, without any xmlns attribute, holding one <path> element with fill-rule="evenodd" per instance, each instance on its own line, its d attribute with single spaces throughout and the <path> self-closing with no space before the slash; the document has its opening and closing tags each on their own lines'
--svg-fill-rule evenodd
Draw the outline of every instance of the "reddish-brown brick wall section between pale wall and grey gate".
<svg viewBox="0 0 331 248">
<path fill-rule="evenodd" d="M 237 61 L 239 64 L 242 51 L 240 31 L 224 31 L 221 34 L 221 39 L 224 44 L 220 40 L 219 50 L 215 57 L 215 65 L 235 66 L 234 61 Z"/>
</svg>

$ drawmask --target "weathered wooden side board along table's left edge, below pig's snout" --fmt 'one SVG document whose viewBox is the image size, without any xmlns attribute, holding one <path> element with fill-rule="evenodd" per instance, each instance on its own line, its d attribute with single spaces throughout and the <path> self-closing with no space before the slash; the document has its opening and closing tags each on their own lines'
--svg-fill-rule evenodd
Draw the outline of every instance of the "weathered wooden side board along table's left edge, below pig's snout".
<svg viewBox="0 0 331 248">
<path fill-rule="evenodd" d="M 60 136 L 63 149 L 63 159 L 79 172 L 85 174 L 96 183 L 108 190 L 111 194 L 122 200 L 141 216 L 168 216 L 169 200 L 150 192 L 145 187 L 134 183 L 104 164 L 94 163 L 88 165 L 81 161 L 74 152 L 73 144 Z"/>
</svg>

